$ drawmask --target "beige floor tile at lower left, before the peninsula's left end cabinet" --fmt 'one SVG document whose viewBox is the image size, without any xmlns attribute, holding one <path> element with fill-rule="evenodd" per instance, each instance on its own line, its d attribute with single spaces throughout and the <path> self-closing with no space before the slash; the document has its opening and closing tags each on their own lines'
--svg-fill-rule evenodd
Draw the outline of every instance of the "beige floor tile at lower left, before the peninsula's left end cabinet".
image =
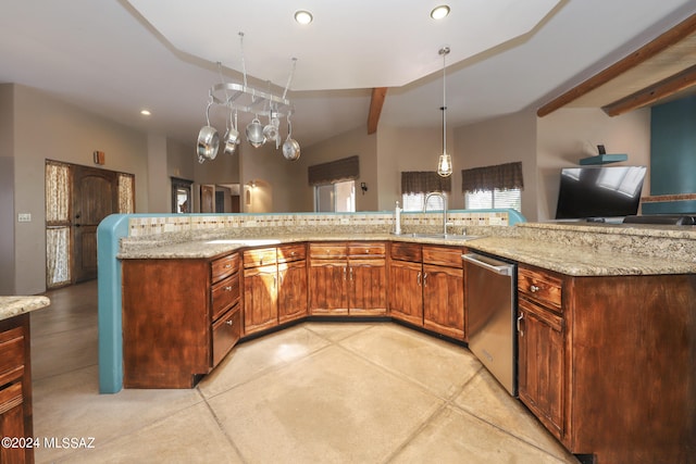
<svg viewBox="0 0 696 464">
<path fill-rule="evenodd" d="M 94 437 L 97 443 L 128 435 L 202 401 L 196 390 L 122 390 L 99 394 L 96 366 L 33 383 L 36 437 Z M 73 452 L 39 449 L 37 462 Z"/>
</svg>

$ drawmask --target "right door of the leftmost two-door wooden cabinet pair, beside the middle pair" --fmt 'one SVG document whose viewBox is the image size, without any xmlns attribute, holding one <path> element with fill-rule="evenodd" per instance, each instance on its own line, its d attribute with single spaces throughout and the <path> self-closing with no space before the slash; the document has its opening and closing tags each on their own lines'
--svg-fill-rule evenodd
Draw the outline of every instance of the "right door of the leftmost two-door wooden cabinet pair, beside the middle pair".
<svg viewBox="0 0 696 464">
<path fill-rule="evenodd" d="M 278 264 L 278 323 L 307 315 L 307 262 Z"/>
</svg>

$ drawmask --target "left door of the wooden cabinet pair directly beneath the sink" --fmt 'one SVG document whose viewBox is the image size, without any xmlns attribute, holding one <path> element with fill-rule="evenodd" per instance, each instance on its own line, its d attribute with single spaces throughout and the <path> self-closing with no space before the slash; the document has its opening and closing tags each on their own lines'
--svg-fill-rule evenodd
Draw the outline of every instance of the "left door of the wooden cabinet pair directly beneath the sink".
<svg viewBox="0 0 696 464">
<path fill-rule="evenodd" d="M 389 312 L 393 317 L 423 326 L 423 266 L 391 261 L 389 266 Z"/>
</svg>

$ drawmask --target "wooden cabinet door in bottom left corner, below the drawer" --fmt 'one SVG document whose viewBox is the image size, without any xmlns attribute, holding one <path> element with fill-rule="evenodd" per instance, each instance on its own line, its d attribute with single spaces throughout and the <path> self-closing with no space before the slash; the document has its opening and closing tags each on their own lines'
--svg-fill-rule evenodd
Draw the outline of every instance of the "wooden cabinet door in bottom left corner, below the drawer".
<svg viewBox="0 0 696 464">
<path fill-rule="evenodd" d="M 24 397 L 22 383 L 0 390 L 0 437 L 26 437 L 24 428 Z M 33 462 L 34 450 L 0 447 L 0 463 Z"/>
</svg>

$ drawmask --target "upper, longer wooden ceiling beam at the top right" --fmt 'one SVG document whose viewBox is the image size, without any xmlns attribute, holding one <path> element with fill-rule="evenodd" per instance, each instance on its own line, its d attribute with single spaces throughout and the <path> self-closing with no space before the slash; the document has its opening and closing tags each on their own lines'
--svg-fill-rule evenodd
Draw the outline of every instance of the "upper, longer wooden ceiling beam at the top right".
<svg viewBox="0 0 696 464">
<path fill-rule="evenodd" d="M 546 103 L 537 110 L 536 115 L 538 117 L 544 117 L 547 114 L 566 106 L 571 101 L 595 90 L 609 80 L 643 63 L 645 60 L 648 60 L 669 47 L 678 43 L 680 40 L 694 34 L 694 32 L 696 32 L 696 14 L 691 15 L 676 26 L 657 37 L 655 40 L 646 43 L 630 55 Z"/>
</svg>

